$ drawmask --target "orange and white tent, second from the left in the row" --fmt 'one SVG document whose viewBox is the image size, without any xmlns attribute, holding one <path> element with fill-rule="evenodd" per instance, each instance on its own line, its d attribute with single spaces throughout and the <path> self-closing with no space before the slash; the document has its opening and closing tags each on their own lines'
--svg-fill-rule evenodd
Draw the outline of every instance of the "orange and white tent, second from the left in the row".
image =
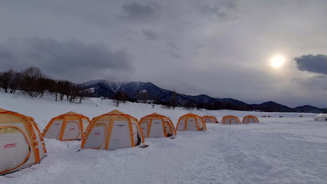
<svg viewBox="0 0 327 184">
<path fill-rule="evenodd" d="M 43 130 L 42 136 L 62 141 L 80 140 L 89 123 L 88 117 L 70 111 L 52 118 Z"/>
</svg>

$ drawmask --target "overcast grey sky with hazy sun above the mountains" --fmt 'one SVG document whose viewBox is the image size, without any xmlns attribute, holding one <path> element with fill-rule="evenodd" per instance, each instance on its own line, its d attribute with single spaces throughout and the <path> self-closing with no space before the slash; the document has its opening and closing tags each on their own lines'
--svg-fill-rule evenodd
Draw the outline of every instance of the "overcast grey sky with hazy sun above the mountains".
<svg viewBox="0 0 327 184">
<path fill-rule="evenodd" d="M 0 1 L 0 72 L 327 106 L 327 2 Z"/>
</svg>

